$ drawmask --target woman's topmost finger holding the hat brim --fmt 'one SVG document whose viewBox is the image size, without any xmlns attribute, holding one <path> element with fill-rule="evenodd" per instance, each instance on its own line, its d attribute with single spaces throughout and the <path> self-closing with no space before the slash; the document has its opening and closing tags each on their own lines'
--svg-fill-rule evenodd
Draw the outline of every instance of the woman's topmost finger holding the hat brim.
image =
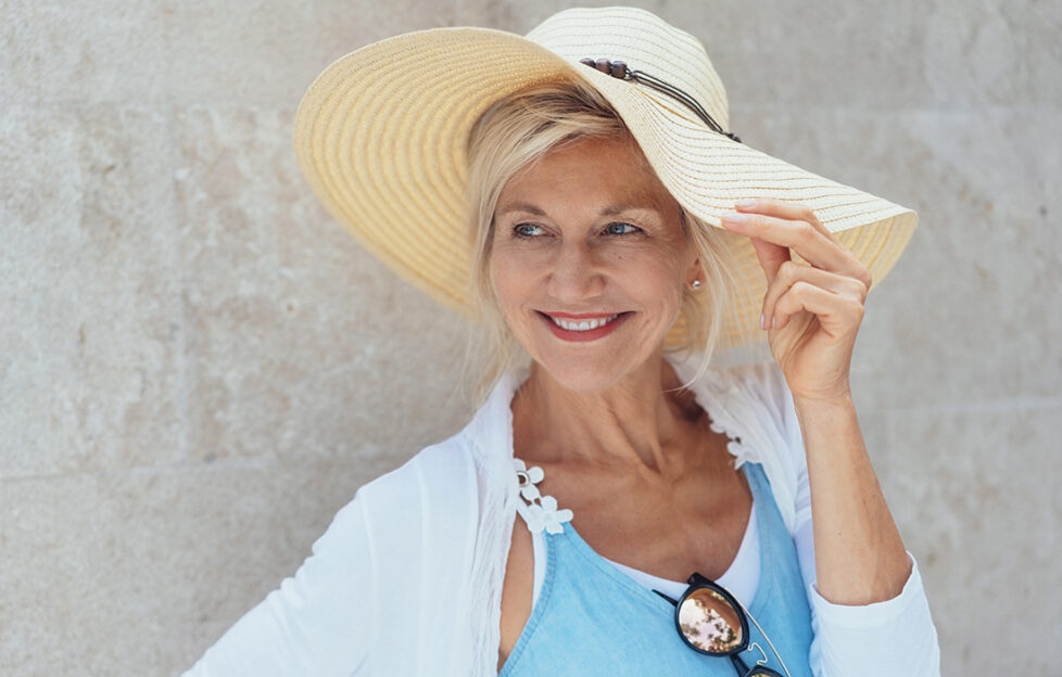
<svg viewBox="0 0 1062 677">
<path fill-rule="evenodd" d="M 816 268 L 856 278 L 870 286 L 867 268 L 832 234 L 820 231 L 821 226 L 736 212 L 724 215 L 722 225 L 731 232 L 788 247 Z"/>
</svg>

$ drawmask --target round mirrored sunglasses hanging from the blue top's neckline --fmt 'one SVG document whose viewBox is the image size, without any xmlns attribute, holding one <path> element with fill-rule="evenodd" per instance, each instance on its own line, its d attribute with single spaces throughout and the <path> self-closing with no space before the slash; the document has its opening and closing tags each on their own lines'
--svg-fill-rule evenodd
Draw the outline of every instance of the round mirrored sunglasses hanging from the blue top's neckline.
<svg viewBox="0 0 1062 677">
<path fill-rule="evenodd" d="M 734 669 L 737 670 L 737 677 L 789 677 L 788 668 L 785 667 L 782 656 L 774 649 L 767 633 L 733 595 L 700 574 L 695 573 L 690 576 L 686 583 L 690 587 L 678 601 L 659 590 L 654 590 L 674 604 L 674 626 L 682 641 L 697 653 L 729 657 Z M 750 618 L 767 640 L 785 675 L 767 667 L 767 653 L 763 652 L 763 648 L 758 642 L 750 642 L 748 635 Z M 748 667 L 739 655 L 747 649 L 756 649 L 762 656 L 753 667 Z"/>
</svg>

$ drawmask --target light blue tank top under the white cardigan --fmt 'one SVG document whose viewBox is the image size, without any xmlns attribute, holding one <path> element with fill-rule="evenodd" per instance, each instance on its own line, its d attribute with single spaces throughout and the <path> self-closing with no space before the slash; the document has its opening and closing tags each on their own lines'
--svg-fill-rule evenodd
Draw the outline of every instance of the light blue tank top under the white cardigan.
<svg viewBox="0 0 1062 677">
<path fill-rule="evenodd" d="M 774 644 L 789 677 L 811 677 L 811 611 L 796 547 L 782 522 L 762 468 L 745 463 L 759 528 L 760 580 L 747 606 Z M 679 637 L 674 606 L 621 573 L 576 533 L 571 523 L 547 534 L 546 573 L 539 599 L 500 677 L 734 677 L 726 657 L 697 653 Z M 693 573 L 693 572 L 690 572 Z M 785 670 L 749 622 L 749 667 L 763 659 Z"/>
</svg>

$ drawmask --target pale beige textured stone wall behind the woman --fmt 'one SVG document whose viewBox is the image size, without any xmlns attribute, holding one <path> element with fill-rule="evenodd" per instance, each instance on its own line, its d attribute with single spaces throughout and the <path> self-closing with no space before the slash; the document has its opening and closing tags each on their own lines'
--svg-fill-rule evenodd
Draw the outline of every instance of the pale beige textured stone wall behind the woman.
<svg viewBox="0 0 1062 677">
<path fill-rule="evenodd" d="M 1060 674 L 1062 7 L 643 4 L 750 144 L 921 212 L 861 334 L 868 439 L 945 674 Z M 460 323 L 340 232 L 289 129 L 356 47 L 565 5 L 0 1 L 0 673 L 178 673 L 460 426 Z"/>
</svg>

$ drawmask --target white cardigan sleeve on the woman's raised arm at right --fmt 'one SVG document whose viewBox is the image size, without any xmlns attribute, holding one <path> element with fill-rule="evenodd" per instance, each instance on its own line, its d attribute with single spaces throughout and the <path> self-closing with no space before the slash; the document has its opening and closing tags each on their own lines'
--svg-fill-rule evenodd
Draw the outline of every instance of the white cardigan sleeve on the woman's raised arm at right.
<svg viewBox="0 0 1062 677">
<path fill-rule="evenodd" d="M 745 370 L 746 382 L 754 385 L 763 406 L 763 423 L 781 432 L 786 440 L 785 452 L 792 455 L 792 467 L 797 469 L 793 537 L 811 606 L 812 674 L 816 677 L 938 677 L 940 649 L 936 628 L 918 564 L 910 552 L 911 574 L 902 591 L 890 600 L 849 606 L 834 604 L 819 595 L 808 464 L 792 395 L 776 365 L 755 365 Z"/>
</svg>

